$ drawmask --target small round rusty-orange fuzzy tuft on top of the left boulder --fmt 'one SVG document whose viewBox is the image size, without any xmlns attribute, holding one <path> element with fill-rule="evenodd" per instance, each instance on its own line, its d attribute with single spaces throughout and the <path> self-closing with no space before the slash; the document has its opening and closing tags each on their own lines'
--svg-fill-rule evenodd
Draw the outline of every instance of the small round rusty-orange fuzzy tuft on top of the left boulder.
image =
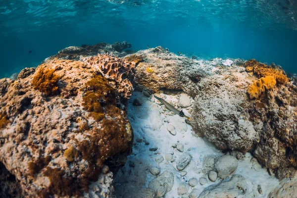
<svg viewBox="0 0 297 198">
<path fill-rule="evenodd" d="M 55 94 L 58 90 L 59 76 L 54 74 L 54 71 L 54 69 L 40 68 L 32 80 L 34 89 L 44 92 L 46 96 Z"/>
</svg>

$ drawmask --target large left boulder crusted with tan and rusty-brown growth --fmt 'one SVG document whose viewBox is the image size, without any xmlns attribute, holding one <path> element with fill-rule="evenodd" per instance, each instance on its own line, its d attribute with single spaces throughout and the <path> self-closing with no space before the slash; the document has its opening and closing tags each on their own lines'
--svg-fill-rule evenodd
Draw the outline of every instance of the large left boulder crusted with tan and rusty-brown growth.
<svg viewBox="0 0 297 198">
<path fill-rule="evenodd" d="M 22 197 L 112 197 L 109 168 L 133 140 L 114 81 L 84 61 L 48 59 L 1 82 L 0 162 Z"/>
</svg>

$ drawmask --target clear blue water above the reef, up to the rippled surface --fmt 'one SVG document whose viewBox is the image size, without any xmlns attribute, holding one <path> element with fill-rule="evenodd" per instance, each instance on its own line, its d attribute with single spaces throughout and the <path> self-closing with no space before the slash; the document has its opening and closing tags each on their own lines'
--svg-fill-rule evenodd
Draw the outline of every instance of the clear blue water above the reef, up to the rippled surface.
<svg viewBox="0 0 297 198">
<path fill-rule="evenodd" d="M 0 78 L 68 46 L 117 41 L 297 73 L 296 20 L 295 0 L 1 0 Z"/>
</svg>

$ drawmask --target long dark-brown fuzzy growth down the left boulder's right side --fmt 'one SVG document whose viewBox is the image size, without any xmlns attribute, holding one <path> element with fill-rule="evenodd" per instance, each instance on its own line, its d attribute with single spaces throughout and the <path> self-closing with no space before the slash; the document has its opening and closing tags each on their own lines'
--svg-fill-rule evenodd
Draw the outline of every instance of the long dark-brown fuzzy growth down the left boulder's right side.
<svg viewBox="0 0 297 198">
<path fill-rule="evenodd" d="M 126 113 L 115 106 L 115 90 L 108 81 L 94 76 L 86 83 L 83 106 L 90 112 L 100 128 L 85 131 L 86 139 L 77 141 L 83 159 L 88 161 L 88 168 L 81 179 L 82 187 L 87 189 L 89 180 L 96 181 L 104 161 L 116 153 L 126 150 L 132 140 L 131 132 L 126 130 Z"/>
</svg>

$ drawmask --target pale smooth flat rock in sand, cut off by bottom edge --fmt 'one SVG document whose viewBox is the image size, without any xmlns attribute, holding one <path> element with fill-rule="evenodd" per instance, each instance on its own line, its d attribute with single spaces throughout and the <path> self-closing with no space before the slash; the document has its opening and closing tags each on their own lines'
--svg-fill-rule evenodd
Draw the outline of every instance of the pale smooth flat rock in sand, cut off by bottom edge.
<svg viewBox="0 0 297 198">
<path fill-rule="evenodd" d="M 223 180 L 217 185 L 209 186 L 198 198 L 256 198 L 259 197 L 257 185 L 240 175 L 233 175 L 230 180 Z"/>
</svg>

